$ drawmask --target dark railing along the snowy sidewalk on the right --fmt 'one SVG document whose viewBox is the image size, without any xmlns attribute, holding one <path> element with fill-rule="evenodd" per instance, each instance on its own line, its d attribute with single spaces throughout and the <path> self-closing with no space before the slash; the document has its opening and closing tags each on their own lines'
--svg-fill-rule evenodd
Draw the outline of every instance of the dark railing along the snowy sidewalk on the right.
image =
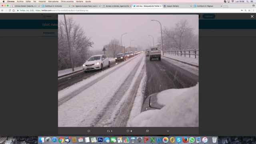
<svg viewBox="0 0 256 144">
<path fill-rule="evenodd" d="M 199 56 L 199 50 L 165 50 L 164 54 L 173 54 L 173 55 L 177 55 L 177 56 L 182 56 L 184 55 L 184 57 L 187 56 L 194 56 L 196 58 L 196 56 Z"/>
</svg>

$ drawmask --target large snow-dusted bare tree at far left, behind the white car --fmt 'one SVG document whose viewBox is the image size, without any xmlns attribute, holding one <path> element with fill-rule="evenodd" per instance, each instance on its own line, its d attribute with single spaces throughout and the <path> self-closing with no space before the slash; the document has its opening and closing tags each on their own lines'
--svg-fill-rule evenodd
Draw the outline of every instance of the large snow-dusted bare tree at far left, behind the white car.
<svg viewBox="0 0 256 144">
<path fill-rule="evenodd" d="M 58 70 L 81 66 L 90 56 L 93 42 L 72 17 L 58 21 Z"/>
</svg>

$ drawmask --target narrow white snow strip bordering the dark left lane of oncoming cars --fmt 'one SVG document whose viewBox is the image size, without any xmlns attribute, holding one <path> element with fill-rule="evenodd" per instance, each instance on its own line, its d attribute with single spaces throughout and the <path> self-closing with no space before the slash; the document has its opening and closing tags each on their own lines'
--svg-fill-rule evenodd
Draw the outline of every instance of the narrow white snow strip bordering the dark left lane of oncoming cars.
<svg viewBox="0 0 256 144">
<path fill-rule="evenodd" d="M 121 64 L 119 64 L 118 66 L 113 66 L 113 67 L 110 67 L 102 72 L 99 72 L 97 74 L 94 74 L 93 76 L 90 76 L 89 78 L 86 78 L 85 80 L 82 80 L 76 84 L 74 84 L 73 86 L 70 86 L 68 88 L 64 88 L 63 90 L 60 90 L 58 92 L 58 100 L 60 98 L 63 98 L 65 96 L 67 96 L 68 94 L 74 92 L 75 90 L 78 90 L 80 89 L 81 87 L 83 87 L 84 85 L 96 80 L 97 78 L 107 74 L 108 72 L 110 72 L 111 70 L 117 68 L 117 67 L 120 67 L 120 66 L 123 66 L 124 64 L 126 64 L 127 62 L 129 62 L 130 60 L 132 60 L 133 58 L 130 58 L 128 60 L 126 60 L 125 62 L 122 62 Z"/>
</svg>

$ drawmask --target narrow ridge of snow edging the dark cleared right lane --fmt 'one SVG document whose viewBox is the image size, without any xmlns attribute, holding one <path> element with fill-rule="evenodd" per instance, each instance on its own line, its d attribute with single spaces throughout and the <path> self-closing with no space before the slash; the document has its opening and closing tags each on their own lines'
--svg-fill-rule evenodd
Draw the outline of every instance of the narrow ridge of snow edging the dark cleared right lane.
<svg viewBox="0 0 256 144">
<path fill-rule="evenodd" d="M 144 98 L 144 92 L 145 92 L 145 87 L 146 87 L 146 80 L 147 80 L 147 75 L 146 75 L 146 71 L 145 71 L 143 74 L 142 80 L 140 82 L 140 86 L 138 88 L 138 92 L 136 94 L 134 104 L 132 106 L 129 120 L 127 122 L 128 127 L 130 127 L 130 125 L 129 125 L 130 121 L 133 120 L 135 118 L 135 116 L 137 116 L 141 112 L 143 98 Z"/>
</svg>

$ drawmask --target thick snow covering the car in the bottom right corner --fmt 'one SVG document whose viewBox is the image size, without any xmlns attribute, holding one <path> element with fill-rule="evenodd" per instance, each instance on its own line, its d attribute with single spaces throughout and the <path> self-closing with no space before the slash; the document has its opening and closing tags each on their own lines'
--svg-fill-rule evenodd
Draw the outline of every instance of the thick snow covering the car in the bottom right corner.
<svg viewBox="0 0 256 144">
<path fill-rule="evenodd" d="M 169 89 L 157 94 L 160 110 L 144 111 L 130 126 L 136 127 L 198 127 L 199 84 L 190 88 Z"/>
</svg>

